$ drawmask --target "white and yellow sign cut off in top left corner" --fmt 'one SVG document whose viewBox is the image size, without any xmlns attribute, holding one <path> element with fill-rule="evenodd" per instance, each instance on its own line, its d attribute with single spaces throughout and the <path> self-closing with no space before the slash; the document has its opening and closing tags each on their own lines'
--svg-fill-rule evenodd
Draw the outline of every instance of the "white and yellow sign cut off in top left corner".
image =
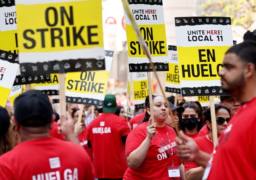
<svg viewBox="0 0 256 180">
<path fill-rule="evenodd" d="M 17 19 L 14 0 L 0 1 L 0 49 L 18 53 Z"/>
</svg>

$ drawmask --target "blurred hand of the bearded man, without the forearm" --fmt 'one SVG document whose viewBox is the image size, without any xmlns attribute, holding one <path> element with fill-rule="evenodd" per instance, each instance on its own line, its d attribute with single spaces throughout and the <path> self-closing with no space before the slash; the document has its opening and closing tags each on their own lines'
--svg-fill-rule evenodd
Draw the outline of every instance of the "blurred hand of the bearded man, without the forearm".
<svg viewBox="0 0 256 180">
<path fill-rule="evenodd" d="M 181 138 L 175 138 L 175 141 L 178 143 L 179 158 L 185 162 L 194 162 L 199 152 L 196 142 L 191 137 L 186 136 L 182 131 L 180 131 L 180 135 Z"/>
</svg>

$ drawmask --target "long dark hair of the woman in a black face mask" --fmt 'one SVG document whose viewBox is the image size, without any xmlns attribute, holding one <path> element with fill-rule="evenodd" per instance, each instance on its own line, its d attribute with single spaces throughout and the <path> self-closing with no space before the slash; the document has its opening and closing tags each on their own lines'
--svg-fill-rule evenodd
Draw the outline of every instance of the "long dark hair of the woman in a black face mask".
<svg viewBox="0 0 256 180">
<path fill-rule="evenodd" d="M 200 129 L 202 129 L 202 127 L 204 126 L 204 121 L 203 121 L 203 108 L 200 104 L 200 102 L 196 101 L 188 101 L 188 102 L 184 102 L 181 101 L 178 106 L 182 106 L 184 108 L 184 110 L 186 108 L 192 108 L 195 110 L 196 114 L 198 114 L 198 124 L 197 124 L 197 132 L 200 131 Z M 182 123 L 182 116 L 179 116 L 179 123 L 178 123 L 178 127 L 180 130 L 182 130 L 185 133 L 185 125 Z"/>
</svg>

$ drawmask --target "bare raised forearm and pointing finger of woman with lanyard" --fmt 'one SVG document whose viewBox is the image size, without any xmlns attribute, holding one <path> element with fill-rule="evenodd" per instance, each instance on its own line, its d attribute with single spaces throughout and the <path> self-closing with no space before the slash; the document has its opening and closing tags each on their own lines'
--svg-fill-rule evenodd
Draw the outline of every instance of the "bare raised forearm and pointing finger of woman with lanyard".
<svg viewBox="0 0 256 180">
<path fill-rule="evenodd" d="M 127 164 L 131 168 L 137 168 L 142 164 L 146 157 L 146 154 L 148 153 L 150 142 L 152 138 L 156 135 L 156 123 L 152 124 L 151 122 L 152 117 L 150 117 L 148 125 L 146 127 L 146 138 L 142 141 L 141 145 L 136 150 L 131 152 L 131 154 L 127 157 Z"/>
</svg>

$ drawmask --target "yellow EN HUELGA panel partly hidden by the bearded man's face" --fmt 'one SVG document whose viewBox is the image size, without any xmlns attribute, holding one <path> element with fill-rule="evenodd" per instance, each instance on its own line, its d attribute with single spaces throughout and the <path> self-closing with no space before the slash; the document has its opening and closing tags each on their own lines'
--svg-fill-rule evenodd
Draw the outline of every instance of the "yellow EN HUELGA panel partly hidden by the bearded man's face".
<svg viewBox="0 0 256 180">
<path fill-rule="evenodd" d="M 178 47 L 180 80 L 220 80 L 225 52 L 230 46 Z"/>
</svg>

